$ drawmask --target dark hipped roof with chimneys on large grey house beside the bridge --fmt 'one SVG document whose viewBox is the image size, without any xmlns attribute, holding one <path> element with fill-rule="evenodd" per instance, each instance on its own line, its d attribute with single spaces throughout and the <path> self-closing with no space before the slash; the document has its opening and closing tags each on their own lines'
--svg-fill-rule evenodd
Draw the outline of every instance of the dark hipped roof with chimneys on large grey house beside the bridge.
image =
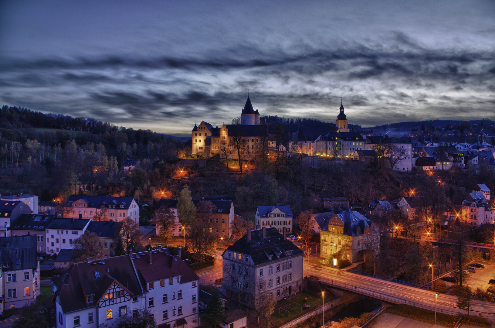
<svg viewBox="0 0 495 328">
<path fill-rule="evenodd" d="M 251 241 L 247 241 L 247 234 L 236 241 L 233 245 L 227 247 L 222 256 L 225 258 L 225 252 L 240 252 L 251 257 L 255 265 L 270 261 L 280 261 L 280 259 L 300 255 L 303 252 L 294 245 L 293 242 L 284 238 L 278 232 L 277 228 L 266 228 L 266 238 L 262 238 L 262 230 L 257 229 L 251 231 Z M 280 256 L 280 258 L 278 257 Z M 271 257 L 271 260 L 270 258 Z"/>
</svg>

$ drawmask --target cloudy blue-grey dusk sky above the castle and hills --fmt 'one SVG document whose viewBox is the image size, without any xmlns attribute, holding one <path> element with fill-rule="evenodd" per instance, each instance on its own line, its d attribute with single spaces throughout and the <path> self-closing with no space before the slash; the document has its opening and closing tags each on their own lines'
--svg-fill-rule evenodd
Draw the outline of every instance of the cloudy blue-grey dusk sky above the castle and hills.
<svg viewBox="0 0 495 328">
<path fill-rule="evenodd" d="M 1 1 L 0 105 L 190 135 L 495 119 L 495 1 Z"/>
</svg>

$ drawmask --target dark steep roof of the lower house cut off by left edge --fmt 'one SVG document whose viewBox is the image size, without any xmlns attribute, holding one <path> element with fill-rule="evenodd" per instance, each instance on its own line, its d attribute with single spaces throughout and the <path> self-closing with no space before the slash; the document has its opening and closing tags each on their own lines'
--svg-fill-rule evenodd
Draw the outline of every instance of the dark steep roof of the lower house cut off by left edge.
<svg viewBox="0 0 495 328">
<path fill-rule="evenodd" d="M 36 235 L 23 235 L 0 238 L 0 264 L 11 263 L 2 271 L 38 268 Z M 20 260 L 17 263 L 17 260 Z"/>
</svg>

